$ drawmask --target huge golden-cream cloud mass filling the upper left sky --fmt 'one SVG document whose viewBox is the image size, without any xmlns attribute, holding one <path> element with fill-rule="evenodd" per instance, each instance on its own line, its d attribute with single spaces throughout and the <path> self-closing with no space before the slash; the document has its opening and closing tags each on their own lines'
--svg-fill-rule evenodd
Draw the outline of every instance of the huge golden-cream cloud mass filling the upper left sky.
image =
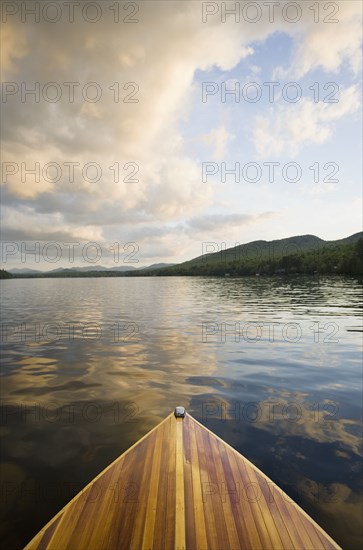
<svg viewBox="0 0 363 550">
<path fill-rule="evenodd" d="M 229 69 L 249 50 L 237 32 L 227 35 L 220 25 L 206 29 L 192 3 L 175 7 L 176 13 L 165 2 L 143 3 L 140 24 L 123 25 L 122 32 L 109 20 L 93 25 L 92 35 L 90 25 L 82 21 L 51 25 L 29 18 L 26 25 L 11 26 L 11 36 L 21 40 L 18 50 L 9 54 L 4 76 L 11 76 L 19 92 L 7 97 L 4 109 L 3 159 L 18 163 L 18 170 L 6 178 L 6 186 L 19 199 L 33 201 L 34 215 L 34 200 L 42 201 L 49 193 L 59 194 L 63 204 L 65 193 L 75 197 L 80 207 L 86 206 L 86 215 L 93 200 L 93 213 L 105 224 L 109 201 L 118 205 L 120 223 L 130 211 L 171 220 L 211 204 L 212 188 L 202 183 L 199 165 L 184 154 L 178 123 L 188 106 L 195 70 L 213 65 Z M 47 87 L 49 82 L 61 89 L 59 102 L 47 100 L 55 90 Z M 67 82 L 76 83 L 74 101 Z M 87 87 L 89 82 L 97 83 L 100 101 L 84 100 L 87 91 L 92 96 L 96 89 Z M 34 83 L 39 83 L 40 100 L 28 94 L 21 101 L 23 87 L 25 93 Z M 130 98 L 137 102 L 125 102 Z M 223 139 L 222 134 L 216 136 L 219 150 Z M 27 170 L 39 163 L 41 177 L 22 177 L 20 161 Z M 57 182 L 42 175 L 49 162 L 62 167 Z M 80 167 L 74 181 L 64 168 L 69 162 Z M 81 174 L 89 162 L 102 168 L 96 185 Z M 109 168 L 115 163 L 120 181 Z M 131 182 L 124 181 L 128 163 L 138 166 Z M 66 221 L 67 211 L 62 215 Z"/>
</svg>

